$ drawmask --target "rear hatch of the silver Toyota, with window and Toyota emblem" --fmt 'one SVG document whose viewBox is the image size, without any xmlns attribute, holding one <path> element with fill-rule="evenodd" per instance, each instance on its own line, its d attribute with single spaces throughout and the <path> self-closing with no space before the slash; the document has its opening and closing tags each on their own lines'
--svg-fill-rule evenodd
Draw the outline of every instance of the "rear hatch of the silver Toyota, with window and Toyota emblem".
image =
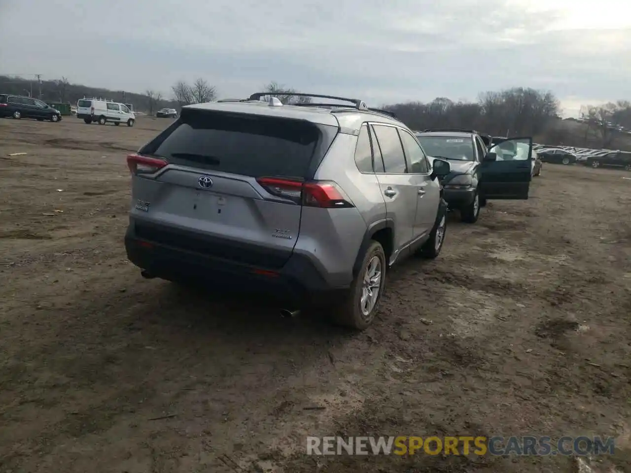
<svg viewBox="0 0 631 473">
<path fill-rule="evenodd" d="M 127 158 L 136 237 L 282 267 L 300 231 L 304 183 L 337 132 L 306 120 L 184 108 Z"/>
</svg>

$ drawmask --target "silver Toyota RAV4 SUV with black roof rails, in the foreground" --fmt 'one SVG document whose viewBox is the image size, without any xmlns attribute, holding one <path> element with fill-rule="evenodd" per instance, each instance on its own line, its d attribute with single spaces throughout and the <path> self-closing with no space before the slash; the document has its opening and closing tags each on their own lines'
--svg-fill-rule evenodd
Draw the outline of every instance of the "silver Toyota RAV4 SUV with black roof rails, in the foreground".
<svg viewBox="0 0 631 473">
<path fill-rule="evenodd" d="M 364 329 L 387 269 L 439 254 L 449 163 L 430 168 L 403 123 L 361 100 L 295 95 L 347 103 L 189 105 L 128 156 L 127 256 L 144 277 L 324 301 Z"/>
</svg>

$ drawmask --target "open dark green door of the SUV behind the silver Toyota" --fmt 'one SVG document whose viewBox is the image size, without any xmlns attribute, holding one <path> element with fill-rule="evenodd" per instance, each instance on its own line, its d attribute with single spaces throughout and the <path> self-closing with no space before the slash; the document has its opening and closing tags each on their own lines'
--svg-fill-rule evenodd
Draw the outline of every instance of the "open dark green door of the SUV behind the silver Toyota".
<svg viewBox="0 0 631 473">
<path fill-rule="evenodd" d="M 532 160 L 532 137 L 497 140 L 482 161 L 481 195 L 485 199 L 528 199 Z"/>
</svg>

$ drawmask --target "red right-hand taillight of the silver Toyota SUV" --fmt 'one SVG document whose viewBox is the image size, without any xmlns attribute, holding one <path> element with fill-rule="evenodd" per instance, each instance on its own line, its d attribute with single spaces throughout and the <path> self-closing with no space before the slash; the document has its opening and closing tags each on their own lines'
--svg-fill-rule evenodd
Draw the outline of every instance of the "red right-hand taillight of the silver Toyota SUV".
<svg viewBox="0 0 631 473">
<path fill-rule="evenodd" d="M 302 182 L 278 177 L 259 177 L 257 182 L 270 194 L 307 207 L 354 207 L 353 202 L 333 181 Z"/>
</svg>

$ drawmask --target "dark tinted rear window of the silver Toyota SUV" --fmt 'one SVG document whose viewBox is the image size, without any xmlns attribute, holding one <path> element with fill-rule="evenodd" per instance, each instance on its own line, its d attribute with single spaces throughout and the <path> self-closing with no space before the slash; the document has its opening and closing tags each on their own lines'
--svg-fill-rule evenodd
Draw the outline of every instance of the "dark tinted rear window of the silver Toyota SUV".
<svg viewBox="0 0 631 473">
<path fill-rule="evenodd" d="M 141 153 L 251 177 L 304 178 L 321 137 L 309 122 L 186 110 Z"/>
</svg>

